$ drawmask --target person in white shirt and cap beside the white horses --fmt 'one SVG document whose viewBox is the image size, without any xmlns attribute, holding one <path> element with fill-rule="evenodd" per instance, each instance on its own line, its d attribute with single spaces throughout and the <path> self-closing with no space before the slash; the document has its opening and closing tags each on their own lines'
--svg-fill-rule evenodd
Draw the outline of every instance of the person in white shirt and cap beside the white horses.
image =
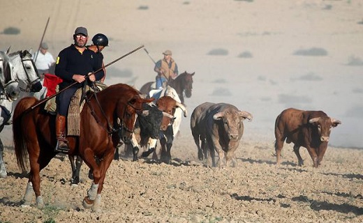
<svg viewBox="0 0 363 223">
<path fill-rule="evenodd" d="M 33 55 L 34 63 L 36 64 L 36 68 L 40 75 L 40 82 L 43 85 L 44 82 L 44 75 L 50 73 L 50 68 L 55 65 L 54 58 L 50 52 L 48 52 L 48 45 L 47 43 L 43 42 L 40 45 L 40 49 Z M 47 93 L 47 88 L 43 86 L 39 92 L 34 93 L 34 97 L 40 99 L 45 98 L 45 94 Z"/>
</svg>

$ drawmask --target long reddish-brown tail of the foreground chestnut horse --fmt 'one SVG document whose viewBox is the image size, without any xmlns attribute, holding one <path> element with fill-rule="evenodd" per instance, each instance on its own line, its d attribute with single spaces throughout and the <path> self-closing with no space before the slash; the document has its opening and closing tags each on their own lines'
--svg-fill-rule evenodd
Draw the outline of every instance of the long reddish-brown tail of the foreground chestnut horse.
<svg viewBox="0 0 363 223">
<path fill-rule="evenodd" d="M 24 138 L 25 134 L 23 131 L 27 131 L 27 127 L 23 125 L 23 117 L 26 112 L 29 111 L 30 107 L 35 104 L 36 98 L 22 98 L 16 105 L 13 114 L 13 141 L 14 150 L 17 158 L 17 166 L 22 171 L 27 170 L 27 142 Z"/>
</svg>

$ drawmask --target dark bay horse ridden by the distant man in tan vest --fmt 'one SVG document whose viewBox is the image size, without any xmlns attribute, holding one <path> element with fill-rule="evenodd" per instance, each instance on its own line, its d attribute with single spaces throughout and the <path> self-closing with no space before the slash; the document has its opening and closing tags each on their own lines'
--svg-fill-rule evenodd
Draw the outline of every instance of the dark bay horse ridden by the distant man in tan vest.
<svg viewBox="0 0 363 223">
<path fill-rule="evenodd" d="M 168 82 L 168 85 L 170 85 L 175 91 L 177 91 L 180 100 L 182 101 L 182 104 L 184 104 L 184 93 L 186 98 L 191 98 L 191 91 L 193 89 L 193 73 L 183 72 L 180 75 L 177 75 L 175 79 L 170 79 Z M 149 95 L 149 92 L 151 91 L 151 85 L 154 84 L 154 82 L 147 82 L 144 84 L 140 92 L 146 95 Z"/>
</svg>

